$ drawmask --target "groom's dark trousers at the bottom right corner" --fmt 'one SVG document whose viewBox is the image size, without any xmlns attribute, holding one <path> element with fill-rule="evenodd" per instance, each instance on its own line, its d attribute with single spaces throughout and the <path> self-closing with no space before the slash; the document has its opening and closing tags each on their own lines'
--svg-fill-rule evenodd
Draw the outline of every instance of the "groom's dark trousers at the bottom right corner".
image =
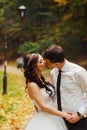
<svg viewBox="0 0 87 130">
<path fill-rule="evenodd" d="M 68 130 L 87 130 L 87 118 L 83 118 L 77 123 L 71 124 L 65 120 Z"/>
</svg>

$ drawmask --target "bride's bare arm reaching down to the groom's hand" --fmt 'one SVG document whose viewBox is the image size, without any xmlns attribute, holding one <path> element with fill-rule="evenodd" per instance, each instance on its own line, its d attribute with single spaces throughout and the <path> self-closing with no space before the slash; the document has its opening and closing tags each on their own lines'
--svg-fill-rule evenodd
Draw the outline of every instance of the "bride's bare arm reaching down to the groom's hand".
<svg viewBox="0 0 87 130">
<path fill-rule="evenodd" d="M 39 105 L 39 107 L 41 108 L 42 111 L 47 112 L 49 114 L 56 115 L 56 116 L 61 116 L 64 118 L 69 117 L 69 114 L 58 111 L 57 109 L 53 109 L 45 103 L 45 99 L 44 99 L 43 95 L 41 94 L 40 88 L 37 86 L 37 84 L 35 84 L 33 82 L 29 83 L 28 92 L 29 92 L 31 99 L 36 101 L 36 103 Z"/>
</svg>

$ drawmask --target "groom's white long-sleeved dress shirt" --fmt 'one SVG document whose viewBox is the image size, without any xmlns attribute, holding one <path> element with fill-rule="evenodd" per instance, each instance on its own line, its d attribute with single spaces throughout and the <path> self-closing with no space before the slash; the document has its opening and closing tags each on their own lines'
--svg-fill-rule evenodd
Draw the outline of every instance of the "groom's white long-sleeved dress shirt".
<svg viewBox="0 0 87 130">
<path fill-rule="evenodd" d="M 79 111 L 87 116 L 87 71 L 74 63 L 65 61 L 61 75 L 62 110 L 66 112 Z M 56 88 L 58 69 L 51 70 L 51 81 Z"/>
</svg>

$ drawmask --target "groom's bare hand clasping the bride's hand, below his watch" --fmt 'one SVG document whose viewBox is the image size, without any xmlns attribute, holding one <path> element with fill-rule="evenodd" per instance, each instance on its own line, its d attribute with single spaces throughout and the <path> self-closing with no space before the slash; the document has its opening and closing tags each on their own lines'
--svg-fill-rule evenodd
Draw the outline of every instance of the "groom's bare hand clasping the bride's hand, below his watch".
<svg viewBox="0 0 87 130">
<path fill-rule="evenodd" d="M 81 119 L 76 112 L 68 112 L 68 114 L 71 116 L 66 120 L 72 124 L 78 122 Z"/>
</svg>

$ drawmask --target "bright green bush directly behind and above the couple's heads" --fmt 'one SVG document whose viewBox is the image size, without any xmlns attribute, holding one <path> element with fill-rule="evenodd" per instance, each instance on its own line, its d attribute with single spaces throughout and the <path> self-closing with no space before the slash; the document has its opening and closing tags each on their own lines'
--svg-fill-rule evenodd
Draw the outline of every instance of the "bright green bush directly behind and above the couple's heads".
<svg viewBox="0 0 87 130">
<path fill-rule="evenodd" d="M 38 40 L 38 42 L 25 42 L 19 46 L 18 53 L 21 55 L 26 55 L 28 53 L 42 53 L 49 45 L 53 44 L 53 39 L 51 37 L 46 37 Z"/>
</svg>

